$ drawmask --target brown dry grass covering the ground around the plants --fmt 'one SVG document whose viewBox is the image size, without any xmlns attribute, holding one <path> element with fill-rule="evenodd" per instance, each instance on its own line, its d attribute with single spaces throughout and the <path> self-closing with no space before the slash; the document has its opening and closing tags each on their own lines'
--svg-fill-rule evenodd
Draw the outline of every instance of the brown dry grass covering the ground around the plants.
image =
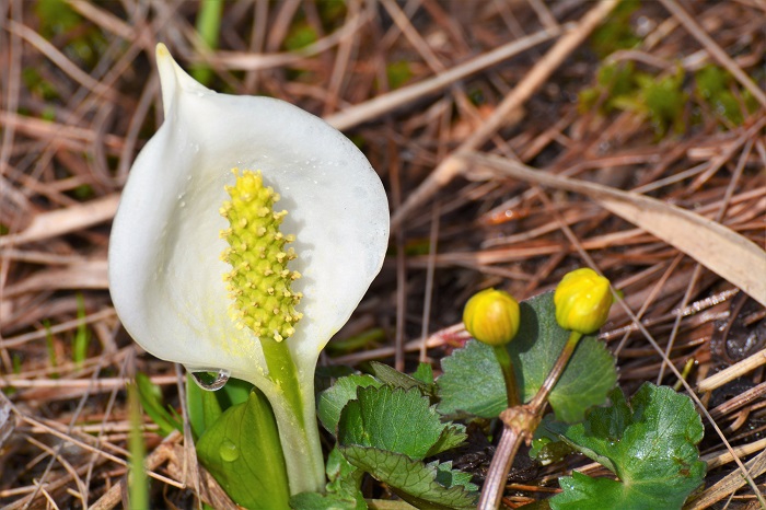
<svg viewBox="0 0 766 510">
<path fill-rule="evenodd" d="M 601 59 L 589 37 L 607 3 L 350 0 L 333 11 L 232 2 L 218 50 L 197 36 L 197 2 L 71 0 L 71 26 L 65 16 L 42 19 L 35 4 L 0 0 L 0 505 L 118 506 L 126 381 L 151 374 L 177 404 L 178 372 L 120 329 L 106 281 L 119 190 L 161 121 L 152 56 L 164 42 L 185 67 L 208 65 L 217 90 L 272 95 L 324 116 L 359 141 L 386 185 L 393 255 L 339 337 L 373 327 L 384 335 L 324 363 L 376 359 L 411 370 L 426 360 L 438 369 L 465 338 L 456 324 L 472 292 L 497 286 L 523 299 L 592 264 L 630 310 L 615 308 L 603 333 L 628 391 L 642 381 L 674 385 L 674 368 L 693 363 L 688 384 L 709 410 L 710 470 L 690 508 L 757 507 L 740 470 L 764 449 L 766 295 L 754 292 L 758 304 L 738 287 L 757 288 L 766 275 L 745 270 L 732 281 L 700 251 L 677 250 L 672 233 L 652 235 L 599 199 L 510 178 L 464 154 L 643 193 L 763 248 L 763 2 L 663 0 L 630 16 L 625 26 L 640 40 L 610 51 L 610 61 L 686 77 L 689 95 L 662 135 L 636 111 L 601 114 L 606 94 L 578 108 L 578 94 L 596 83 Z M 315 39 L 290 49 L 306 33 Z M 726 86 L 741 123 L 695 93 L 695 73 L 709 63 L 734 77 Z M 729 245 L 701 244 L 736 262 Z M 78 335 L 89 336 L 80 360 Z M 163 441 L 148 419 L 144 438 L 155 503 L 195 507 L 206 490 L 181 438 Z M 762 491 L 763 457 L 747 464 Z M 506 502 L 549 494 L 571 467 L 510 486 Z"/>
</svg>

